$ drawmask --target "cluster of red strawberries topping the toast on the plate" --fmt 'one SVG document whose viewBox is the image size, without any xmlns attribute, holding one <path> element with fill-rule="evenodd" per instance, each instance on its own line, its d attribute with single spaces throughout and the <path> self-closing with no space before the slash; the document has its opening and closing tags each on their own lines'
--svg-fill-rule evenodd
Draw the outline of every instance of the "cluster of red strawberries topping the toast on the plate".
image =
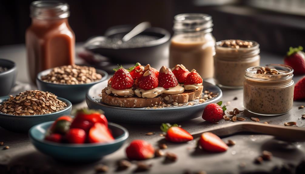
<svg viewBox="0 0 305 174">
<path fill-rule="evenodd" d="M 149 64 L 143 67 L 140 63 L 128 69 L 119 66 L 113 70 L 116 72 L 109 79 L 108 85 L 118 90 L 132 87 L 150 90 L 158 86 L 169 89 L 178 83 L 185 85 L 202 83 L 202 78 L 196 70 L 190 72 L 182 64 L 176 65 L 172 70 L 162 66 L 160 71 L 157 71 Z"/>
</svg>

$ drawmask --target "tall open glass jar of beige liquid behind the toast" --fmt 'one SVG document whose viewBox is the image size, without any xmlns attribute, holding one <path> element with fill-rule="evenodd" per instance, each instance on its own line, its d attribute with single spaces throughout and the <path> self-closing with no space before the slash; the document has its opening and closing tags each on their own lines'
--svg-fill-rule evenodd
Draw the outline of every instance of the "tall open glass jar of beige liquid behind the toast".
<svg viewBox="0 0 305 174">
<path fill-rule="evenodd" d="M 212 17 L 202 13 L 185 13 L 174 17 L 174 35 L 170 43 L 170 68 L 183 64 L 196 69 L 202 78 L 213 77 L 215 38 Z"/>
</svg>

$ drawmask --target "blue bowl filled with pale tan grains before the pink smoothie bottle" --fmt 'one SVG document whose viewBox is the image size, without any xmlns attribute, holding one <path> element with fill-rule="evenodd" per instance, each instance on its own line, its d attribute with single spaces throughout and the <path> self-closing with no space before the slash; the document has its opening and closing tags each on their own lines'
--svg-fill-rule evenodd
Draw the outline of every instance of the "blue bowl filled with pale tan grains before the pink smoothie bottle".
<svg viewBox="0 0 305 174">
<path fill-rule="evenodd" d="M 66 65 L 41 71 L 36 83 L 41 91 L 56 93 L 71 103 L 84 101 L 91 86 L 107 80 L 108 74 L 89 66 Z"/>
</svg>

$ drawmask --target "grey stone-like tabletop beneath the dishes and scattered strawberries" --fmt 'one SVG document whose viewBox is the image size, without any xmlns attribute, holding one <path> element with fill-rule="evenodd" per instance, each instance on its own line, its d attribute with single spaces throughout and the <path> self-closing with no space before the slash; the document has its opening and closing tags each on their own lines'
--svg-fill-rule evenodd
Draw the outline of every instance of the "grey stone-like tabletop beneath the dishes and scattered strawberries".
<svg viewBox="0 0 305 174">
<path fill-rule="evenodd" d="M 10 58 L 17 63 L 17 67 L 21 71 L 18 74 L 17 80 L 27 82 L 28 77 L 25 75 L 25 52 L 24 46 L 16 47 L 0 47 L 0 55 Z M 269 63 L 283 63 L 283 58 L 280 56 L 261 53 L 261 65 Z M 294 77 L 294 81 L 297 82 L 301 76 Z M 209 80 L 212 81 L 211 79 Z M 234 97 L 237 100 L 233 100 Z M 233 110 L 237 107 L 243 110 L 242 107 L 242 89 L 239 90 L 223 90 L 223 101 L 224 103 L 230 101 L 228 110 Z M 85 106 L 85 103 L 74 105 L 73 108 L 79 108 Z M 305 105 L 305 102 L 294 102 L 293 108 L 289 113 L 282 116 L 273 117 L 262 117 L 260 122 L 268 121 L 270 124 L 283 125 L 287 121 L 296 121 L 297 126 L 305 127 L 305 120 L 301 119 L 301 114 L 305 113 L 305 109 L 298 110 L 298 106 Z M 248 112 L 244 113 L 247 120 L 250 121 L 250 117 L 253 114 Z M 198 133 L 205 128 L 212 126 L 219 126 L 221 124 L 234 124 L 230 121 L 221 120 L 219 124 L 209 124 L 204 122 L 202 118 L 193 119 L 179 123 L 184 129 L 191 133 Z M 121 124 L 126 127 L 130 133 L 130 137 L 127 142 L 133 139 L 144 139 L 157 146 L 159 141 L 163 141 L 163 137 L 160 137 L 161 133 L 159 126 L 157 125 L 132 125 L 132 124 Z M 153 131 L 154 135 L 146 136 L 145 133 Z M 305 136 L 305 135 L 304 135 Z M 236 145 L 228 149 L 228 151 L 219 154 L 211 154 L 204 151 L 196 151 L 196 140 L 189 141 L 185 144 L 168 144 L 168 149 L 178 155 L 178 160 L 173 163 L 164 163 L 164 158 L 154 158 L 145 162 L 151 163 L 152 169 L 149 173 L 183 173 L 185 169 L 193 172 L 204 170 L 207 173 L 240 173 L 240 172 L 270 172 L 274 166 L 282 164 L 294 164 L 296 165 L 301 158 L 304 158 L 305 154 L 305 143 L 294 142 L 289 143 L 285 141 L 279 141 L 274 139 L 273 136 L 269 135 L 253 135 L 253 134 L 237 134 L 230 137 L 224 137 L 223 140 L 227 141 L 232 139 L 236 141 Z M 13 133 L 0 128 L 0 141 L 4 141 L 5 145 L 10 146 L 8 150 L 0 150 L 0 173 L 1 170 L 7 168 L 7 166 L 19 165 L 19 167 L 12 167 L 11 169 L 22 169 L 20 166 L 27 166 L 27 169 L 35 169 L 35 171 L 48 170 L 52 173 L 66 172 L 66 173 L 88 173 L 93 174 L 94 166 L 96 164 L 106 164 L 109 166 L 110 171 L 113 173 L 115 170 L 116 161 L 119 159 L 126 158 L 125 148 L 127 143 L 124 144 L 123 148 L 115 153 L 106 156 L 101 161 L 90 164 L 64 164 L 57 162 L 52 158 L 43 155 L 38 152 L 27 137 L 27 134 Z M 263 164 L 257 165 L 253 163 L 254 158 L 261 154 L 262 150 L 269 150 L 273 153 L 274 157 L 269 162 L 263 162 Z M 246 164 L 242 167 L 240 164 Z M 130 169 L 117 173 L 133 173 L 135 165 Z M 38 170 L 39 169 L 39 170 Z"/>
</svg>

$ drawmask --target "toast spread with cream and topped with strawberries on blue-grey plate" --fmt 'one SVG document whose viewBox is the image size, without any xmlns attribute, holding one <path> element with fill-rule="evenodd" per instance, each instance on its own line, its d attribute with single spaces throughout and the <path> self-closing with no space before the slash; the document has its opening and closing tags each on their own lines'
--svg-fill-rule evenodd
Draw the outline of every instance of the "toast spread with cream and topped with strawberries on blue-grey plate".
<svg viewBox="0 0 305 174">
<path fill-rule="evenodd" d="M 182 64 L 162 66 L 160 71 L 137 63 L 124 69 L 119 66 L 102 90 L 102 102 L 120 107 L 139 108 L 170 103 L 186 103 L 202 96 L 202 78 L 195 69 Z"/>
</svg>

